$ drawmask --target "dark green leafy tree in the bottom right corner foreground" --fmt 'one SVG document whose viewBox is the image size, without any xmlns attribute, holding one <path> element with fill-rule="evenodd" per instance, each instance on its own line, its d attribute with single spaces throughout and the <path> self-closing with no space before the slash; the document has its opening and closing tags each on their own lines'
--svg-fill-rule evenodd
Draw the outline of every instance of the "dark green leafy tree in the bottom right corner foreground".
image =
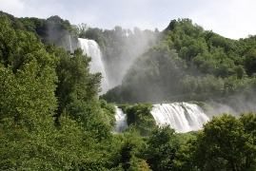
<svg viewBox="0 0 256 171">
<path fill-rule="evenodd" d="M 175 170 L 254 170 L 254 124 L 252 113 L 213 117 L 196 139 L 180 148 Z"/>
</svg>

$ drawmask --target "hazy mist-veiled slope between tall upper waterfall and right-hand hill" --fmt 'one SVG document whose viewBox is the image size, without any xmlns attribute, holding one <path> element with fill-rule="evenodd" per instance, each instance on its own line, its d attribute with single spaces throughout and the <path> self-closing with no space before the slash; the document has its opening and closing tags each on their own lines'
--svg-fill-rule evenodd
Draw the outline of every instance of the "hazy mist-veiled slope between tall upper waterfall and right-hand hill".
<svg viewBox="0 0 256 171">
<path fill-rule="evenodd" d="M 110 33 L 109 33 L 110 32 Z M 143 52 L 147 51 L 157 43 L 159 31 L 133 30 L 115 27 L 112 30 L 103 32 L 111 36 L 107 47 L 103 48 L 103 61 L 107 69 L 109 87 L 112 88 L 122 83 L 123 77 L 127 73 L 128 67 Z"/>
</svg>

